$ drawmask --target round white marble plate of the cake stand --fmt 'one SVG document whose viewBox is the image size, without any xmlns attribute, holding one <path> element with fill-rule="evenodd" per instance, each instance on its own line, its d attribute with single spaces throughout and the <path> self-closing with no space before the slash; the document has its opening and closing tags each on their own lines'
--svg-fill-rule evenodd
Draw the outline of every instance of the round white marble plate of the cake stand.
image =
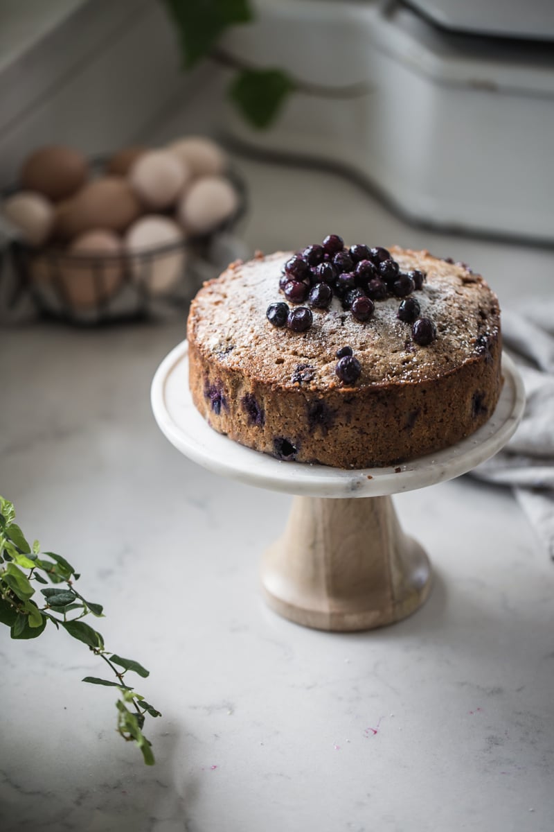
<svg viewBox="0 0 554 832">
<path fill-rule="evenodd" d="M 450 448 L 396 468 L 347 470 L 282 462 L 217 433 L 194 407 L 186 340 L 159 365 L 151 401 L 154 417 L 169 442 L 213 473 L 258 488 L 307 497 L 379 497 L 453 479 L 497 453 L 517 428 L 525 404 L 521 376 L 507 354 L 503 354 L 503 376 L 497 409 L 482 428 Z"/>
</svg>

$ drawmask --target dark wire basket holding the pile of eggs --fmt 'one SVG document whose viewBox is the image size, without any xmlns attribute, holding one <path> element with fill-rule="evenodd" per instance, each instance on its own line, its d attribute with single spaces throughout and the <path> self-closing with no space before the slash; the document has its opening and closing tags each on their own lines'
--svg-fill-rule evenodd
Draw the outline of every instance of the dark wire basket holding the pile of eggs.
<svg viewBox="0 0 554 832">
<path fill-rule="evenodd" d="M 234 230 L 247 211 L 243 178 L 229 169 L 224 175 L 237 192 L 238 205 L 208 234 L 116 255 L 69 254 L 53 245 L 10 240 L 0 261 L 2 271 L 7 261 L 12 266 L 12 287 L 4 300 L 7 314 L 23 295 L 32 298 L 42 317 L 77 325 L 145 319 L 184 309 L 207 274 L 214 242 Z"/>
</svg>

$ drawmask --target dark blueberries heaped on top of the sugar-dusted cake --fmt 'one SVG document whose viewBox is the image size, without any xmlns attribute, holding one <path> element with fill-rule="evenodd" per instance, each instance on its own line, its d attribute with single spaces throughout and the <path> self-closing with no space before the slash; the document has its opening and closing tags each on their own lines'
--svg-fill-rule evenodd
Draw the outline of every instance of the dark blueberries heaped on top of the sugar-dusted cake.
<svg viewBox="0 0 554 832">
<path fill-rule="evenodd" d="M 313 322 L 310 307 L 329 309 L 336 297 L 355 320 L 365 323 L 375 311 L 375 301 L 397 297 L 402 299 L 399 319 L 412 324 L 416 344 L 427 346 L 436 339 L 437 329 L 430 318 L 419 316 L 419 302 L 411 296 L 423 287 L 425 280 L 423 271 L 401 271 L 390 252 L 380 246 L 358 244 L 349 249 L 338 234 L 330 234 L 321 245 L 308 245 L 287 260 L 279 289 L 294 306 L 291 309 L 284 302 L 271 304 L 267 307 L 267 319 L 273 326 L 305 332 Z M 345 383 L 353 383 L 361 367 L 353 358 L 351 347 L 343 347 L 336 357 L 340 359 L 336 374 Z"/>
</svg>

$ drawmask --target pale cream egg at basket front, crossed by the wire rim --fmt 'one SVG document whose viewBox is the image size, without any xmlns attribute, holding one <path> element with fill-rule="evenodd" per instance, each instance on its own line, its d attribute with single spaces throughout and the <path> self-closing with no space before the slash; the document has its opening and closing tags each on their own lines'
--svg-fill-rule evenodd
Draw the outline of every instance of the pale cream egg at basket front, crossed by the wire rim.
<svg viewBox="0 0 554 832">
<path fill-rule="evenodd" d="M 186 252 L 182 245 L 183 231 L 168 217 L 141 217 L 125 235 L 125 250 L 131 255 L 130 270 L 137 282 L 144 282 L 154 295 L 174 287 L 183 276 Z M 175 249 L 149 255 L 160 247 Z"/>
</svg>

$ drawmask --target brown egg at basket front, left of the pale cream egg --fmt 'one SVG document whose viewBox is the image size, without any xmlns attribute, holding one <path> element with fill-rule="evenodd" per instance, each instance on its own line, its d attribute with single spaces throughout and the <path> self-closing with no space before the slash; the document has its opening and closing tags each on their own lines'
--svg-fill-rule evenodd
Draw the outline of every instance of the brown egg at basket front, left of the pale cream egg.
<svg viewBox="0 0 554 832">
<path fill-rule="evenodd" d="M 73 240 L 58 258 L 55 285 L 74 310 L 97 308 L 124 280 L 123 244 L 113 231 L 94 229 Z"/>
</svg>

